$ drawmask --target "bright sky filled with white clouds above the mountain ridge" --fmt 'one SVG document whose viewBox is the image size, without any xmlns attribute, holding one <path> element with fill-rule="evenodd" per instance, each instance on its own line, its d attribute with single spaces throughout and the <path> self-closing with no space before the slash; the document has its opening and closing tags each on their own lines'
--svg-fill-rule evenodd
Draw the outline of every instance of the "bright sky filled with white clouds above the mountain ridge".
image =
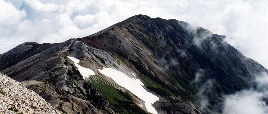
<svg viewBox="0 0 268 114">
<path fill-rule="evenodd" d="M 0 4 L 0 53 L 23 42 L 85 37 L 145 14 L 227 35 L 225 41 L 267 68 L 267 0 L 0 0 Z"/>
</svg>

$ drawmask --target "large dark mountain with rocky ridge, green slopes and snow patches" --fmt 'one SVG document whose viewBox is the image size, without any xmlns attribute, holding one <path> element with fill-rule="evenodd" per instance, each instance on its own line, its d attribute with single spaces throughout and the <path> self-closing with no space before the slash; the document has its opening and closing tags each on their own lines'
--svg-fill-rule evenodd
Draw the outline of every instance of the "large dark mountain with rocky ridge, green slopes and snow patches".
<svg viewBox="0 0 268 114">
<path fill-rule="evenodd" d="M 267 73 L 221 35 L 146 15 L 62 43 L 26 42 L 0 59 L 2 74 L 62 113 L 209 113 L 202 95 L 221 112 L 222 95 L 256 89 Z"/>
</svg>

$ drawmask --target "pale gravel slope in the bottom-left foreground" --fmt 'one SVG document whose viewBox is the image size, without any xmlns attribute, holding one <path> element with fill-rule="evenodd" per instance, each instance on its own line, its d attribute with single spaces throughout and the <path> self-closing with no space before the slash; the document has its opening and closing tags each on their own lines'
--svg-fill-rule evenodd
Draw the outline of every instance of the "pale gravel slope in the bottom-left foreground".
<svg viewBox="0 0 268 114">
<path fill-rule="evenodd" d="M 60 114 L 36 92 L 0 73 L 0 114 Z"/>
</svg>

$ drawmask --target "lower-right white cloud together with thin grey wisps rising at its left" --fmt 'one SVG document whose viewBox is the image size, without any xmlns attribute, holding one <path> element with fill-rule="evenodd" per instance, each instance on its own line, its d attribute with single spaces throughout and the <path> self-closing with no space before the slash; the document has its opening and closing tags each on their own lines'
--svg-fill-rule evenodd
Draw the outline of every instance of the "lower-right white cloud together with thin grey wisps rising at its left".
<svg viewBox="0 0 268 114">
<path fill-rule="evenodd" d="M 200 71 L 200 70 L 199 70 Z M 196 73 L 194 82 L 200 84 L 200 72 Z M 223 114 L 267 114 L 267 73 L 262 72 L 255 76 L 253 82 L 256 88 L 244 89 L 233 94 L 221 94 L 216 96 L 213 87 L 217 86 L 214 81 L 207 81 L 200 85 L 199 103 L 200 109 L 204 113 L 223 113 Z M 216 112 L 210 107 L 212 97 L 219 97 L 219 102 L 213 104 L 213 107 L 221 112 Z"/>
</svg>

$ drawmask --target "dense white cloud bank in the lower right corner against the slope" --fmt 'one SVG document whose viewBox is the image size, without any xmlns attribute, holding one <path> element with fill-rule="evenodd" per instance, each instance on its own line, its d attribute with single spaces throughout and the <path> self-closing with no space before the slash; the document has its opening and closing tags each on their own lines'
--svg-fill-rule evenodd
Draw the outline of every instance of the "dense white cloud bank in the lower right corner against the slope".
<svg viewBox="0 0 268 114">
<path fill-rule="evenodd" d="M 256 90 L 224 96 L 224 114 L 267 114 L 267 73 L 256 76 Z"/>
</svg>

